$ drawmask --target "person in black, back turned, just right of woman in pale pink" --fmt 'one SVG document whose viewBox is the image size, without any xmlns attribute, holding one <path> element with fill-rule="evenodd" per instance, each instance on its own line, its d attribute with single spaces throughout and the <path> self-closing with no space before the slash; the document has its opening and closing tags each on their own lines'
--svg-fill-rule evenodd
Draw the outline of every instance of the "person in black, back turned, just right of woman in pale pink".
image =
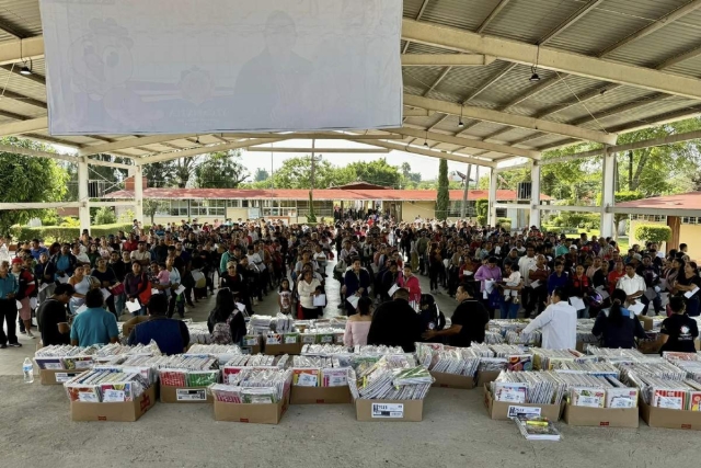
<svg viewBox="0 0 701 468">
<path fill-rule="evenodd" d="M 392 299 L 379 306 L 372 315 L 368 344 L 402 346 L 405 353 L 413 353 L 415 343 L 421 341 L 421 317 L 409 305 L 409 290 L 398 289 Z"/>
</svg>

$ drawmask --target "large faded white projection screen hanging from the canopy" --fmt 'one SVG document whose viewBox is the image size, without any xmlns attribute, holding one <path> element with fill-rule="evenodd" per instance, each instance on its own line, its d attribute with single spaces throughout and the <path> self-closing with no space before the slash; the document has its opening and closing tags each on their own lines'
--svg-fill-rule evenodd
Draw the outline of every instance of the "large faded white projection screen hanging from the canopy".
<svg viewBox="0 0 701 468">
<path fill-rule="evenodd" d="M 398 127 L 401 0 L 41 0 L 51 135 Z"/>
</svg>

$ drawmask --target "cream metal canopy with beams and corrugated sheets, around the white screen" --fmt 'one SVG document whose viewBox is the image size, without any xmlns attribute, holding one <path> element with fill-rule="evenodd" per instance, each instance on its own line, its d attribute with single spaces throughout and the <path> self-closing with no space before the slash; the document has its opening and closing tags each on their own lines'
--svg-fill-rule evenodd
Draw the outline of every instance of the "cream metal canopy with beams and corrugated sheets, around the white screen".
<svg viewBox="0 0 701 468">
<path fill-rule="evenodd" d="M 0 136 L 137 164 L 299 138 L 49 136 L 38 0 L 2 5 Z M 370 146 L 485 167 L 582 140 L 610 145 L 701 113 L 700 31 L 701 0 L 404 0 L 404 126 L 358 134 Z M 28 58 L 33 73 L 20 75 Z"/>
</svg>

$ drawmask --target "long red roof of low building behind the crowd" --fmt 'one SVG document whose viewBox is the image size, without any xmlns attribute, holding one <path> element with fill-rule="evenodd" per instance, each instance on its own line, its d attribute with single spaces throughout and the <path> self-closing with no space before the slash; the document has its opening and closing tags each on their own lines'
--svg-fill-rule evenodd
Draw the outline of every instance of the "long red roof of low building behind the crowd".
<svg viewBox="0 0 701 468">
<path fill-rule="evenodd" d="M 133 198 L 134 192 L 117 191 L 104 195 L 104 198 Z M 153 199 L 230 199 L 230 198 L 266 198 L 266 199 L 308 199 L 308 190 L 290 189 L 143 189 L 145 198 Z M 468 199 L 487 198 L 489 191 L 471 190 Z M 436 199 L 435 190 L 314 190 L 315 201 L 387 201 L 387 202 L 433 202 Z M 450 199 L 462 199 L 461 190 L 451 190 Z M 516 201 L 516 191 L 498 190 L 496 199 L 499 202 Z M 551 199 L 541 195 L 541 199 Z"/>
</svg>

